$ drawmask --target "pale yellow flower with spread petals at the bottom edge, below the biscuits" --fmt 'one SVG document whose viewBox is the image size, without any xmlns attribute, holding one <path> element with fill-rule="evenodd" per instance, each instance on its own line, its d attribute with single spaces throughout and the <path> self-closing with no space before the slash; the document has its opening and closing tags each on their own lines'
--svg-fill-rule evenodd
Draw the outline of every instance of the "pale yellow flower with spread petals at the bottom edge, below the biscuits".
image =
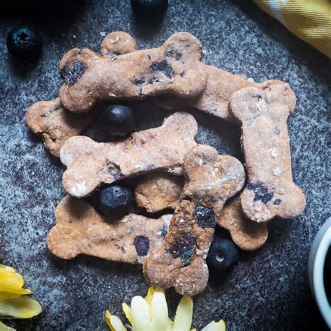
<svg viewBox="0 0 331 331">
<path fill-rule="evenodd" d="M 190 331 L 193 314 L 191 297 L 182 297 L 177 307 L 175 320 L 168 317 L 168 305 L 164 290 L 150 287 L 145 299 L 135 296 L 131 307 L 123 303 L 122 309 L 133 331 Z M 126 331 L 122 321 L 110 311 L 105 312 L 105 322 L 112 331 Z M 191 330 L 193 331 L 193 330 Z M 209 323 L 202 331 L 226 331 L 224 321 Z"/>
</svg>

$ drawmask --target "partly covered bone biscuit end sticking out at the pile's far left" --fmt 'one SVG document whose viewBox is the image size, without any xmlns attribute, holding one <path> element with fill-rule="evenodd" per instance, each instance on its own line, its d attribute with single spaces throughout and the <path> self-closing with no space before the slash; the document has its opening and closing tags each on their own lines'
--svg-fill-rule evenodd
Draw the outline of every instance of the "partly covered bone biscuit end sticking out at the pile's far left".
<svg viewBox="0 0 331 331">
<path fill-rule="evenodd" d="M 65 110 L 59 98 L 39 101 L 27 110 L 27 126 L 33 133 L 41 135 L 45 146 L 54 156 L 68 140 L 79 135 L 94 121 L 94 113 L 74 114 Z"/>
</svg>

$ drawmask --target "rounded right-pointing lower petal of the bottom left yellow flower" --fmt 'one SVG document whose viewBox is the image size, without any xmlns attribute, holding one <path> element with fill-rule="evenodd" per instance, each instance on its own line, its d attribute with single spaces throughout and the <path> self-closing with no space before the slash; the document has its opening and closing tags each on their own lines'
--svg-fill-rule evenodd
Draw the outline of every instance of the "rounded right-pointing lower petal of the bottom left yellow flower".
<svg viewBox="0 0 331 331">
<path fill-rule="evenodd" d="M 41 313 L 41 305 L 31 297 L 21 296 L 13 299 L 0 299 L 0 316 L 31 318 Z"/>
</svg>

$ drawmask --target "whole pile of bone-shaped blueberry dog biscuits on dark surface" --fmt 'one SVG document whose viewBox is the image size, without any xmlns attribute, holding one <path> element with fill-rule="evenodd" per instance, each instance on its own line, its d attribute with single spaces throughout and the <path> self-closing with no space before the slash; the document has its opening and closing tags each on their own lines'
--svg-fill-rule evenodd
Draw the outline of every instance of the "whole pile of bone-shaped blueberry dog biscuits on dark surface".
<svg viewBox="0 0 331 331">
<path fill-rule="evenodd" d="M 286 123 L 295 94 L 284 82 L 249 82 L 201 59 L 199 41 L 187 33 L 170 36 L 161 47 L 136 50 L 130 35 L 113 32 L 101 55 L 87 48 L 64 55 L 59 98 L 27 111 L 31 131 L 66 166 L 68 196 L 57 206 L 47 240 L 55 256 L 83 253 L 140 263 L 152 286 L 197 295 L 207 285 L 206 258 L 217 224 L 238 247 L 255 250 L 267 240 L 267 221 L 303 212 Z M 154 97 L 155 111 L 172 110 L 161 126 L 116 142 L 80 135 L 101 105 L 148 96 Z M 187 107 L 242 127 L 245 167 L 196 143 L 198 124 Z M 133 177 L 142 178 L 134 192 L 139 207 L 173 214 L 105 216 L 88 198 Z"/>
</svg>

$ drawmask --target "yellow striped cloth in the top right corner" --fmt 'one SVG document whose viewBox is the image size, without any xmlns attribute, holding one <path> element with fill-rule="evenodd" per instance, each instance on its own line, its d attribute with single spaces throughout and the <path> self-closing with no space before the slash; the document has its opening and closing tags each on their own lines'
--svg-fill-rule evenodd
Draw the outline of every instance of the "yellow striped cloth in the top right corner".
<svg viewBox="0 0 331 331">
<path fill-rule="evenodd" d="M 331 57 L 331 0 L 253 0 L 295 36 Z"/>
</svg>

